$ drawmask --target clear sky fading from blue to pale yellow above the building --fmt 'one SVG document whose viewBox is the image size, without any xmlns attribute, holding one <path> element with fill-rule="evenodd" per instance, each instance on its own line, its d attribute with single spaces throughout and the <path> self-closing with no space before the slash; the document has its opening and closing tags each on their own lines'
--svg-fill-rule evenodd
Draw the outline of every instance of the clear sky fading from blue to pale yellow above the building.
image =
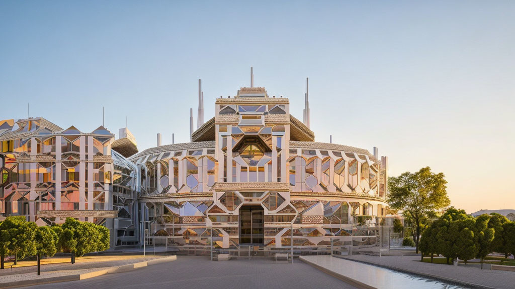
<svg viewBox="0 0 515 289">
<path fill-rule="evenodd" d="M 0 2 L 0 119 L 42 116 L 91 132 L 128 127 L 141 150 L 189 140 L 203 80 L 214 99 L 249 86 L 317 141 L 430 166 L 452 205 L 515 209 L 515 2 Z M 196 125 L 196 120 L 195 120 Z"/>
</svg>

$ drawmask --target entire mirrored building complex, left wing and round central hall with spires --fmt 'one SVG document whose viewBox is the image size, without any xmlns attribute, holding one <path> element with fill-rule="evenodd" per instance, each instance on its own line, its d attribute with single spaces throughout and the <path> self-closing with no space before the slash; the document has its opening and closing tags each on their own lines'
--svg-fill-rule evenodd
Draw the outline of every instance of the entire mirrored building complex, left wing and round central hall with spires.
<svg viewBox="0 0 515 289">
<path fill-rule="evenodd" d="M 308 103 L 307 79 L 300 121 L 289 99 L 253 87 L 251 76 L 251 87 L 216 99 L 204 123 L 199 81 L 192 141 L 161 146 L 158 136 L 157 147 L 140 153 L 126 129 L 114 140 L 103 127 L 0 122 L 2 214 L 106 224 L 113 245 L 378 247 L 388 159 L 375 148 L 315 142 Z"/>
</svg>

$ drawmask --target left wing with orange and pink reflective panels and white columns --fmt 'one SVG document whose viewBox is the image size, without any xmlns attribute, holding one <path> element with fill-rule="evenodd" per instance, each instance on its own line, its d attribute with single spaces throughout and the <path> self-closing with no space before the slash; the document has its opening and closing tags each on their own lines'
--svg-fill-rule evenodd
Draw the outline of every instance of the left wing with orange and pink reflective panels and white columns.
<svg viewBox="0 0 515 289">
<path fill-rule="evenodd" d="M 0 121 L 0 212 L 38 225 L 66 217 L 134 234 L 135 165 L 111 150 L 103 127 L 82 133 L 44 118 Z M 115 241 L 113 241 L 113 245 Z"/>
</svg>

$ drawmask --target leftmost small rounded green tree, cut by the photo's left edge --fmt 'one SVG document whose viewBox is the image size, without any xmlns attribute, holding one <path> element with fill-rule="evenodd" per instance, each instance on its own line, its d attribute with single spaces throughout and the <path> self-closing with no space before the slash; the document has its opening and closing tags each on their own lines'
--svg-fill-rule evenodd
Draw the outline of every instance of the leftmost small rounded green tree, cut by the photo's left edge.
<svg viewBox="0 0 515 289">
<path fill-rule="evenodd" d="M 8 249 L 10 254 L 14 254 L 14 264 L 18 257 L 24 259 L 36 255 L 36 223 L 27 222 L 25 216 L 9 216 L 2 222 L 2 227 L 8 232 L 5 238 L 9 239 Z"/>
</svg>

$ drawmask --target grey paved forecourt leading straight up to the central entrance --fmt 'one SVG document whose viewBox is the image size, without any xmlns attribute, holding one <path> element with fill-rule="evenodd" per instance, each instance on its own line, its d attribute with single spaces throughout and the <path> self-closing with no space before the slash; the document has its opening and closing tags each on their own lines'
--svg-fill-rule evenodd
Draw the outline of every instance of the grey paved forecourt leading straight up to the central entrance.
<svg viewBox="0 0 515 289">
<path fill-rule="evenodd" d="M 207 257 L 178 256 L 176 261 L 131 272 L 26 288 L 354 288 L 312 266 L 275 263 L 272 258 L 210 261 Z"/>
</svg>

